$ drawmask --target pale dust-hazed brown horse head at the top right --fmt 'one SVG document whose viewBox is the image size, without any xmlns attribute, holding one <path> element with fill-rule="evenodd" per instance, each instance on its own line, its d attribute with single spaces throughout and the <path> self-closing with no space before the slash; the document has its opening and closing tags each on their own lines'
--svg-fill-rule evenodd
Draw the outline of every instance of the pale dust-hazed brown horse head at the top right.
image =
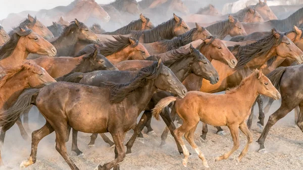
<svg viewBox="0 0 303 170">
<path fill-rule="evenodd" d="M 275 15 L 275 13 L 266 4 L 266 0 L 264 0 L 264 2 L 259 0 L 259 3 L 257 3 L 254 6 L 249 6 L 249 7 L 258 11 L 258 13 L 263 17 L 263 19 L 265 21 L 278 19 L 277 16 Z"/>
</svg>

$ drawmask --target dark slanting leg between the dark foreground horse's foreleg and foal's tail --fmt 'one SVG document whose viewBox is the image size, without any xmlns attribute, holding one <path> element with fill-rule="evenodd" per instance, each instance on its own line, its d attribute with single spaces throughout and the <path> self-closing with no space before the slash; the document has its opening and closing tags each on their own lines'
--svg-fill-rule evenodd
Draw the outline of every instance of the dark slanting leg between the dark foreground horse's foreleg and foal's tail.
<svg viewBox="0 0 303 170">
<path fill-rule="evenodd" d="M 138 137 L 139 133 L 143 130 L 144 125 L 151 120 L 151 117 L 153 115 L 151 115 L 151 111 L 150 110 L 145 110 L 140 118 L 139 123 L 136 125 L 135 129 L 134 129 L 134 134 L 131 136 L 131 138 L 129 139 L 129 141 L 126 143 L 126 154 L 131 153 L 131 148 L 136 140 L 136 138 Z M 142 139 L 142 138 L 141 138 Z"/>
</svg>

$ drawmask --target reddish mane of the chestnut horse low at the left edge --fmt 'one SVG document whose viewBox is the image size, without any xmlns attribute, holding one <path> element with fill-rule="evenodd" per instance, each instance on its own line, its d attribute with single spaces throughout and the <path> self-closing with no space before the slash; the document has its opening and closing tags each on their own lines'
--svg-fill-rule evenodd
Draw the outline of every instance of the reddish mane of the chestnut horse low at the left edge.
<svg viewBox="0 0 303 170">
<path fill-rule="evenodd" d="M 6 81 L 22 70 L 28 70 L 36 73 L 35 69 L 39 66 L 33 61 L 24 61 L 22 64 L 13 68 L 4 68 L 5 76 L 0 79 L 0 88 L 6 83 Z"/>
</svg>

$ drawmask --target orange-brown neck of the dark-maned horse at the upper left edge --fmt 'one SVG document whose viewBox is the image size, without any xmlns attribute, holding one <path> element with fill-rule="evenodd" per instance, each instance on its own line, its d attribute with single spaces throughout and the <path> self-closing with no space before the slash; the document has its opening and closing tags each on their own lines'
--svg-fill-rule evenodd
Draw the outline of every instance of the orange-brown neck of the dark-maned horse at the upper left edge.
<svg viewBox="0 0 303 170">
<path fill-rule="evenodd" d="M 26 47 L 18 42 L 12 54 L 3 60 L 0 60 L 0 66 L 11 67 L 19 65 L 21 62 L 26 60 L 28 54 L 29 52 L 27 51 Z"/>
</svg>

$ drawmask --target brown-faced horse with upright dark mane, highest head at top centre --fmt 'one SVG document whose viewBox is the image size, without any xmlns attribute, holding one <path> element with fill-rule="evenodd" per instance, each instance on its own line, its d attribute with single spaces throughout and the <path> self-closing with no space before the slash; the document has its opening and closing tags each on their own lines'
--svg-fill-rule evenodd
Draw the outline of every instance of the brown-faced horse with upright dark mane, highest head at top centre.
<svg viewBox="0 0 303 170">
<path fill-rule="evenodd" d="M 172 39 L 173 37 L 182 35 L 190 30 L 181 17 L 178 17 L 175 14 L 173 16 L 172 19 L 157 25 L 153 29 L 131 31 L 130 36 L 136 38 L 141 43 L 151 43 L 163 39 Z"/>
</svg>

